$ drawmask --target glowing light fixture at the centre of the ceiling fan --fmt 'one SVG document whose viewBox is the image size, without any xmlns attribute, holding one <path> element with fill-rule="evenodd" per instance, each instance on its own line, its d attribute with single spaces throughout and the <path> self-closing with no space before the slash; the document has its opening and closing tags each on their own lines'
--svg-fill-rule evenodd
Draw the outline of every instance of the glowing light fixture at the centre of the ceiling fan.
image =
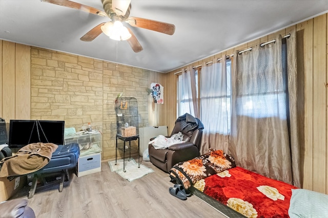
<svg viewBox="0 0 328 218">
<path fill-rule="evenodd" d="M 109 38 L 117 41 L 128 40 L 131 37 L 128 29 L 118 20 L 116 20 L 114 23 L 105 23 L 103 26 L 101 26 L 101 31 L 109 36 Z"/>
</svg>

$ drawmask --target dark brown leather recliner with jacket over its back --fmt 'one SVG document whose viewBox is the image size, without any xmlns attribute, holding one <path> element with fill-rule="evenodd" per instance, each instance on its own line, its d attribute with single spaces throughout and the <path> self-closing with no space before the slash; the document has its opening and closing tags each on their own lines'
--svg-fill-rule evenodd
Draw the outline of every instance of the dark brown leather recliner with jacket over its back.
<svg viewBox="0 0 328 218">
<path fill-rule="evenodd" d="M 185 142 L 173 144 L 167 149 L 155 149 L 152 144 L 149 144 L 150 161 L 168 173 L 176 163 L 198 157 L 203 128 L 203 124 L 198 118 L 188 113 L 179 116 L 171 135 L 167 137 L 181 132 Z"/>
</svg>

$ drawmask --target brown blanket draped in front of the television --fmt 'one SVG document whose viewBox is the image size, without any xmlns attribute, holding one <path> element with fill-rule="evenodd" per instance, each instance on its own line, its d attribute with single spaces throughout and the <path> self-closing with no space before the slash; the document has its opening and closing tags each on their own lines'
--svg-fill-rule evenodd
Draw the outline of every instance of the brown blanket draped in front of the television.
<svg viewBox="0 0 328 218">
<path fill-rule="evenodd" d="M 31 143 L 11 156 L 0 161 L 2 165 L 0 177 L 19 176 L 38 171 L 47 165 L 52 153 L 58 148 L 53 143 Z"/>
</svg>

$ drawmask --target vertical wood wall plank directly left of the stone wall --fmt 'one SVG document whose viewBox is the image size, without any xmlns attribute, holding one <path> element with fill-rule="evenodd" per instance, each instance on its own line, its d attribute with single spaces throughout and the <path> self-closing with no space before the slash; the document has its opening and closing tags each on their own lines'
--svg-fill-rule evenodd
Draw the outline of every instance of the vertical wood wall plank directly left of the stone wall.
<svg viewBox="0 0 328 218">
<path fill-rule="evenodd" d="M 15 118 L 31 116 L 31 52 L 30 46 L 16 44 L 15 61 Z"/>
</svg>

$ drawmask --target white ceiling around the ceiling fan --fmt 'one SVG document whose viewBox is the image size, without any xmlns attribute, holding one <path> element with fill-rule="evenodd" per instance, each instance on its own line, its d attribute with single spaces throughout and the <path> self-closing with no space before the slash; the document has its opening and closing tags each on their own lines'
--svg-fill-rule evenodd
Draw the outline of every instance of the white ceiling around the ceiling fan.
<svg viewBox="0 0 328 218">
<path fill-rule="evenodd" d="M 103 10 L 100 0 L 73 1 Z M 104 33 L 79 39 L 108 17 L 40 0 L 0 0 L 0 39 L 168 72 L 327 10 L 327 0 L 132 0 L 130 16 L 175 25 L 172 36 L 130 27 L 144 48 L 134 53 Z"/>
</svg>

